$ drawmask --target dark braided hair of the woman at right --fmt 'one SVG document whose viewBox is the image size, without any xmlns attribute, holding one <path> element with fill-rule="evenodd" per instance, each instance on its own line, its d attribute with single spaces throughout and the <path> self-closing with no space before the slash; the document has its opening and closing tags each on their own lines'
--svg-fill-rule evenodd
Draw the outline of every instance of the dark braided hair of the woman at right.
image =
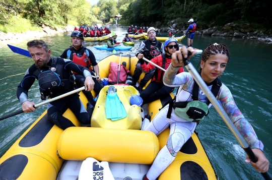
<svg viewBox="0 0 272 180">
<path fill-rule="evenodd" d="M 229 62 L 229 59 L 230 59 L 230 52 L 229 52 L 229 49 L 228 47 L 225 45 L 225 44 L 218 44 L 218 43 L 212 43 L 212 44 L 209 44 L 207 46 L 207 48 L 204 50 L 204 52 L 202 53 L 201 55 L 201 60 L 200 62 L 198 63 L 197 65 L 197 68 L 200 66 L 200 63 L 201 61 L 203 62 L 206 62 L 207 59 L 211 56 L 211 55 L 216 55 L 218 53 L 221 53 L 221 54 L 225 54 L 228 56 L 228 62 Z M 200 67 L 200 73 L 201 73 L 202 69 Z"/>
</svg>

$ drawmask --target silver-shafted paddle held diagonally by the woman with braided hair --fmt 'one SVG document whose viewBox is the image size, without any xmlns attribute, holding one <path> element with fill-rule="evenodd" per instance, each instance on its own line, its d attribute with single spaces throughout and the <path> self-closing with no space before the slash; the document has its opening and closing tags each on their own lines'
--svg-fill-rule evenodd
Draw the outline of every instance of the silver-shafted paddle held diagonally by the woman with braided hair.
<svg viewBox="0 0 272 180">
<path fill-rule="evenodd" d="M 191 55 L 190 51 L 188 51 L 188 55 Z M 202 91 L 206 94 L 206 96 L 208 97 L 208 99 L 210 100 L 210 102 L 214 105 L 214 107 L 216 108 L 217 112 L 223 118 L 224 122 L 226 123 L 226 125 L 228 126 L 228 128 L 231 130 L 231 132 L 233 133 L 233 135 L 236 137 L 236 139 L 238 140 L 238 142 L 240 143 L 240 145 L 242 146 L 242 148 L 244 149 L 244 151 L 247 153 L 247 155 L 249 156 L 249 158 L 251 159 L 251 161 L 252 162 L 257 162 L 258 161 L 257 157 L 255 156 L 255 154 L 253 153 L 253 151 L 251 150 L 251 148 L 248 146 L 247 142 L 242 137 L 242 135 L 240 134 L 240 132 L 238 131 L 238 129 L 234 126 L 234 124 L 232 123 L 232 121 L 229 118 L 229 116 L 226 113 L 226 111 L 219 104 L 219 102 L 216 99 L 216 97 L 213 95 L 213 93 L 208 88 L 208 86 L 206 85 L 206 83 L 202 80 L 201 76 L 195 70 L 195 68 L 193 67 L 193 65 L 188 61 L 187 58 L 184 58 L 184 57 L 183 57 L 183 62 L 184 62 L 184 66 L 186 67 L 186 69 L 188 70 L 188 72 L 192 75 L 193 79 L 196 81 L 196 83 L 199 85 L 199 87 L 202 89 Z M 267 172 L 264 172 L 264 173 L 261 173 L 261 174 L 264 177 L 264 179 L 266 179 L 266 180 L 270 179 L 271 180 L 271 178 L 270 178 L 270 176 L 268 175 Z"/>
</svg>

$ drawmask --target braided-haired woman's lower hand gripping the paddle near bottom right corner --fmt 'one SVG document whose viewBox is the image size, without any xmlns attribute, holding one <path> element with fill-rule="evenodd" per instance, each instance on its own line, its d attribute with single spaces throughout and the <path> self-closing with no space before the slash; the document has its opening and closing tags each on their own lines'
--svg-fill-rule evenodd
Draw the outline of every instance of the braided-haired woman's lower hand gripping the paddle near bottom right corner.
<svg viewBox="0 0 272 180">
<path fill-rule="evenodd" d="M 266 172 L 269 168 L 269 161 L 263 154 L 263 152 L 260 149 L 252 148 L 253 153 L 258 158 L 257 162 L 252 162 L 248 155 L 246 155 L 245 162 L 250 162 L 251 165 L 258 171 L 258 172 Z"/>
</svg>

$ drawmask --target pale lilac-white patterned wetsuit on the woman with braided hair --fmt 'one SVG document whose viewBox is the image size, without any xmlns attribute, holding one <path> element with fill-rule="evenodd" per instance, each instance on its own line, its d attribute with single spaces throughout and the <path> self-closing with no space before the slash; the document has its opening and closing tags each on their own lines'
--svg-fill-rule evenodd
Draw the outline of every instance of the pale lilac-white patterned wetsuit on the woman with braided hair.
<svg viewBox="0 0 272 180">
<path fill-rule="evenodd" d="M 179 68 L 172 67 L 172 64 L 170 65 L 170 68 L 171 70 L 169 71 L 168 69 L 164 74 L 164 84 L 170 87 L 180 86 L 177 92 L 176 102 L 192 101 L 191 97 L 194 86 L 193 77 L 190 75 L 190 73 L 181 73 L 176 75 Z M 213 83 L 214 82 L 207 84 L 209 89 L 212 88 Z M 216 98 L 220 100 L 224 110 L 238 131 L 244 137 L 248 145 L 251 148 L 263 150 L 262 142 L 257 139 L 253 128 L 236 106 L 233 96 L 227 86 L 222 84 Z M 207 102 L 207 96 L 200 88 L 198 91 L 198 100 Z M 177 152 L 191 137 L 197 125 L 197 123 L 188 122 L 178 117 L 174 113 L 174 109 L 172 109 L 171 117 L 167 118 L 168 107 L 169 105 L 166 105 L 164 108 L 162 108 L 145 129 L 159 135 L 170 126 L 170 135 L 167 144 L 158 153 L 147 173 L 147 177 L 150 180 L 155 180 L 173 162 Z"/>
</svg>

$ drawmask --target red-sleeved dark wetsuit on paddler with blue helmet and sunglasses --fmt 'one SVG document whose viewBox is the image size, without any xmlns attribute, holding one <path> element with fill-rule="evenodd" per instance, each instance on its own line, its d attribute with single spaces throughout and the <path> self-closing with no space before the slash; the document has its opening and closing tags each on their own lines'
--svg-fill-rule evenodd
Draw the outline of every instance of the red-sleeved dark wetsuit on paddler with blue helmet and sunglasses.
<svg viewBox="0 0 272 180">
<path fill-rule="evenodd" d="M 162 54 L 151 59 L 151 62 L 155 63 L 156 65 L 166 70 L 171 63 L 171 56 L 165 54 L 165 63 L 163 63 Z M 141 60 L 141 67 L 144 72 L 149 72 L 150 70 L 156 68 L 154 65 L 150 63 L 146 64 L 144 60 Z M 182 72 L 184 72 L 183 67 L 181 67 L 178 70 L 178 73 L 182 73 Z M 163 98 L 165 95 L 169 94 L 170 92 L 174 90 L 174 87 L 165 86 L 163 84 L 163 75 L 164 75 L 164 72 L 160 70 L 159 68 L 156 68 L 154 77 L 152 78 L 151 82 L 148 84 L 146 89 L 140 94 L 140 96 L 144 100 L 143 104 L 147 104 L 157 99 Z"/>
</svg>

